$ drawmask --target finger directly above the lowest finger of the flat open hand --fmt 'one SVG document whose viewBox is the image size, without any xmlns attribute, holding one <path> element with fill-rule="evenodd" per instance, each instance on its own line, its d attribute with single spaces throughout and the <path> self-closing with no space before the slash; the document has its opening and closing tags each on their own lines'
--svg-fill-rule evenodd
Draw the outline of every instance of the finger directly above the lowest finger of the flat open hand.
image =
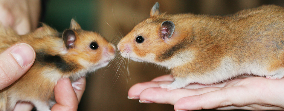
<svg viewBox="0 0 284 111">
<path fill-rule="evenodd" d="M 214 90 L 220 90 L 219 87 L 205 87 L 201 89 L 176 89 L 167 91 L 163 88 L 148 88 L 141 92 L 139 99 L 143 103 L 159 103 L 159 104 L 172 104 L 181 98 L 199 95 Z M 146 101 L 146 102 L 145 102 Z M 148 102 L 149 101 L 149 102 Z"/>
</svg>

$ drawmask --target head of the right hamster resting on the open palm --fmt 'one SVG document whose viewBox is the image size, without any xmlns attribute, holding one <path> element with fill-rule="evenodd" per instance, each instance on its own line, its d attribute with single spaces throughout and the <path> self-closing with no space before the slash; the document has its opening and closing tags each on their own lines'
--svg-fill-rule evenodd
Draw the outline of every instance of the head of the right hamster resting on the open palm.
<svg viewBox="0 0 284 111">
<path fill-rule="evenodd" d="M 138 62 L 151 62 L 172 67 L 171 64 L 177 38 L 175 24 L 159 11 L 158 2 L 152 7 L 150 17 L 137 24 L 132 31 L 117 44 L 117 49 L 125 58 Z"/>
</svg>

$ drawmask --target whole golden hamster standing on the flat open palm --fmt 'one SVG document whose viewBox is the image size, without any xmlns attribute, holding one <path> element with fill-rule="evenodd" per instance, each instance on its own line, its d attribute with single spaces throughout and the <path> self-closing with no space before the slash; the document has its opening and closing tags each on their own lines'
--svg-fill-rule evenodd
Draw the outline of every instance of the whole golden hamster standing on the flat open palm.
<svg viewBox="0 0 284 111">
<path fill-rule="evenodd" d="M 242 75 L 284 76 L 284 8 L 261 6 L 233 15 L 166 14 L 157 2 L 150 17 L 117 44 L 122 57 L 171 71 L 174 90 Z"/>
</svg>

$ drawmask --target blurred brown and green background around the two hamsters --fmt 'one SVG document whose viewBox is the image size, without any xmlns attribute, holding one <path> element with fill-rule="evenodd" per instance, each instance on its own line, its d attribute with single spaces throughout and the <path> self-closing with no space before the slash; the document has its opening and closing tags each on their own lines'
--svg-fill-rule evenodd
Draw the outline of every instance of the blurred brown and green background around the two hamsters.
<svg viewBox="0 0 284 111">
<path fill-rule="evenodd" d="M 149 17 L 155 2 L 161 12 L 226 15 L 263 4 L 284 5 L 283 0 L 49 0 L 43 22 L 63 31 L 75 18 L 82 29 L 94 30 L 117 44 L 136 24 Z M 119 57 L 119 56 L 117 56 Z M 114 60 L 87 78 L 79 111 L 173 111 L 169 104 L 142 104 L 127 99 L 129 88 L 168 74 L 161 67 L 128 60 Z"/>
</svg>

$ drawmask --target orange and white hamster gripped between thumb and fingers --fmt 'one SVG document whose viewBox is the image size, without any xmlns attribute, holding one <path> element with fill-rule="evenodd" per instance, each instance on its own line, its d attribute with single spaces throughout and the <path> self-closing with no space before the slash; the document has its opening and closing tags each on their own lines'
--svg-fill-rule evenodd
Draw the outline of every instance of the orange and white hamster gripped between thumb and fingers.
<svg viewBox="0 0 284 111">
<path fill-rule="evenodd" d="M 74 19 L 63 33 L 45 24 L 21 36 L 10 29 L 0 29 L 0 52 L 20 42 L 33 46 L 36 59 L 20 79 L 1 90 L 1 111 L 13 110 L 18 101 L 30 102 L 38 111 L 48 111 L 55 104 L 54 86 L 60 78 L 74 82 L 114 59 L 114 45 L 96 32 L 81 29 Z"/>
</svg>

